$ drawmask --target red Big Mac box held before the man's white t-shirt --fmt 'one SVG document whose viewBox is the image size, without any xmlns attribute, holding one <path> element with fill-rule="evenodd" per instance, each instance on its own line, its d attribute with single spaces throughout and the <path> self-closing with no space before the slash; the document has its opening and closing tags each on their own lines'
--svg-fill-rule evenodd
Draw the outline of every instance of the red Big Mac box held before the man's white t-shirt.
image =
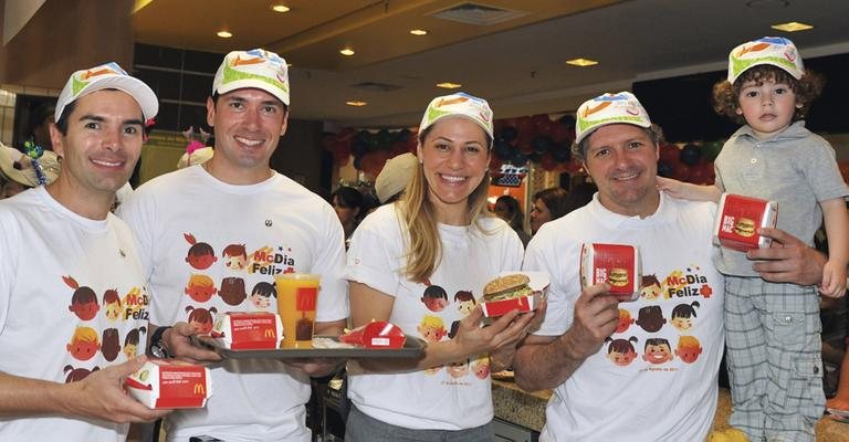
<svg viewBox="0 0 849 442">
<path fill-rule="evenodd" d="M 640 250 L 630 244 L 586 243 L 580 248 L 580 287 L 608 283 L 619 301 L 640 297 Z"/>
</svg>

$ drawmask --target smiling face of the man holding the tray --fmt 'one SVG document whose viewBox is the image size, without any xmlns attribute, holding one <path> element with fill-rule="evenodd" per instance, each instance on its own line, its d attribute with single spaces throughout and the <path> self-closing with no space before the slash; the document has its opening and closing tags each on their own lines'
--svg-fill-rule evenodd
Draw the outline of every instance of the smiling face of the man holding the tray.
<svg viewBox="0 0 849 442">
<path fill-rule="evenodd" d="M 243 88 L 207 99 L 207 123 L 216 131 L 216 155 L 206 165 L 217 178 L 250 185 L 269 178 L 269 160 L 286 131 L 283 102 L 265 91 Z"/>
</svg>

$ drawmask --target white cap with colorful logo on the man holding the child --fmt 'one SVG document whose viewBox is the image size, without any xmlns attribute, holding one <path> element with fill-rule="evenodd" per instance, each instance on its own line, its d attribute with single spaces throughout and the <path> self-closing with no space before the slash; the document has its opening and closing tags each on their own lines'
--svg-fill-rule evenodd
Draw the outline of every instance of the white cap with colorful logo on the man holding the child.
<svg viewBox="0 0 849 442">
<path fill-rule="evenodd" d="M 630 92 L 606 93 L 588 99 L 578 107 L 575 116 L 575 144 L 580 143 L 593 130 L 610 124 L 651 127 L 649 114 Z"/>
</svg>

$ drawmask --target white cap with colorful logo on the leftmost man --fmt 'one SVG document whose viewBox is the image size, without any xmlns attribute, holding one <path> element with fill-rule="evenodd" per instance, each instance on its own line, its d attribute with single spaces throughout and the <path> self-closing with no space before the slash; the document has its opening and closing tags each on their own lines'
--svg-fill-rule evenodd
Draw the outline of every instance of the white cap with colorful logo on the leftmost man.
<svg viewBox="0 0 849 442">
<path fill-rule="evenodd" d="M 129 94 L 142 107 L 145 120 L 159 112 L 159 101 L 145 82 L 130 76 L 115 62 L 109 62 L 87 70 L 76 71 L 67 78 L 65 87 L 56 101 L 56 122 L 62 117 L 65 107 L 81 96 L 103 90 L 118 90 Z"/>
</svg>

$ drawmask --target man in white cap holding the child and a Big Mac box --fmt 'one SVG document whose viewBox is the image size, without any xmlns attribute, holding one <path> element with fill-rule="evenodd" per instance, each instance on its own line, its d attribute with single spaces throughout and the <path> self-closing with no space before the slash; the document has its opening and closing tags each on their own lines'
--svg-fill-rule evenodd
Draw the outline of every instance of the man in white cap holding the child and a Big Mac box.
<svg viewBox="0 0 849 442">
<path fill-rule="evenodd" d="M 522 388 L 555 389 L 541 440 L 703 441 L 723 348 L 723 277 L 711 261 L 716 207 L 658 191 L 659 131 L 630 93 L 584 103 L 575 143 L 598 192 L 544 224 L 523 264 L 552 274 L 545 320 L 514 362 Z M 796 266 L 778 277 L 819 277 L 821 255 L 784 232 L 765 233 L 786 249 L 756 257 Z M 608 284 L 581 291 L 583 243 L 637 245 L 642 274 L 656 283 L 631 303 L 609 296 Z M 695 314 L 672 320 L 686 308 Z"/>
</svg>

